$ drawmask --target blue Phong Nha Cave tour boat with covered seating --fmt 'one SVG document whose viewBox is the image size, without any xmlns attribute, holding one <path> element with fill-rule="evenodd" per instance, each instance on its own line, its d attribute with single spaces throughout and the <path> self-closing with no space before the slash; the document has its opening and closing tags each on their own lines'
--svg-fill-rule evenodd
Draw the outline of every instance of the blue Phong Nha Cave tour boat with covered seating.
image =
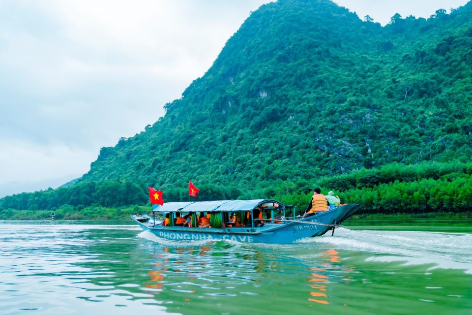
<svg viewBox="0 0 472 315">
<path fill-rule="evenodd" d="M 153 205 L 152 217 L 132 215 L 131 219 L 143 230 L 174 241 L 232 240 L 291 244 L 302 238 L 324 235 L 329 230 L 334 233 L 334 229 L 342 226 L 340 224 L 358 208 L 358 204 L 346 204 L 302 218 L 295 217 L 295 206 L 273 199 L 167 202 L 162 206 Z M 261 212 L 266 218 L 263 216 L 261 219 Z M 167 214 L 170 220 L 169 225 L 165 226 L 162 223 Z M 192 223 L 198 221 L 198 214 L 209 217 L 211 227 L 198 227 L 197 224 L 193 227 L 177 226 L 174 219 L 176 215 L 183 214 L 189 215 Z M 232 215 L 236 215 L 236 224 L 228 221 Z"/>
</svg>

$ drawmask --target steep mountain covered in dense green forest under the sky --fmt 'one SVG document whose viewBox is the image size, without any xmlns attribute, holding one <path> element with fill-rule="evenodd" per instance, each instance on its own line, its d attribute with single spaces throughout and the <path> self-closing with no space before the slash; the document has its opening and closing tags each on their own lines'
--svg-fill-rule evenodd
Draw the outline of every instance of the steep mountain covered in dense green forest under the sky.
<svg viewBox="0 0 472 315">
<path fill-rule="evenodd" d="M 102 148 L 76 187 L 126 181 L 172 200 L 190 179 L 220 198 L 262 198 L 361 168 L 468 162 L 472 3 L 427 20 L 396 14 L 385 27 L 329 0 L 263 5 L 165 109 Z"/>
</svg>

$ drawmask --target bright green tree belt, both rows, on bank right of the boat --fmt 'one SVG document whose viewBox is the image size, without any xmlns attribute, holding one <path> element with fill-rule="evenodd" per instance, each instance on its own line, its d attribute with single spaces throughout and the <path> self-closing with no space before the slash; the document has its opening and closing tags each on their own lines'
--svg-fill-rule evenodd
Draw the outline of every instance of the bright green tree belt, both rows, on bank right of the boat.
<svg viewBox="0 0 472 315">
<path fill-rule="evenodd" d="M 321 178 L 322 193 L 333 190 L 342 203 L 358 203 L 364 213 L 468 212 L 472 209 L 472 162 L 430 163 L 380 169 Z M 293 185 L 275 199 L 297 206 L 302 213 L 311 191 Z"/>
</svg>

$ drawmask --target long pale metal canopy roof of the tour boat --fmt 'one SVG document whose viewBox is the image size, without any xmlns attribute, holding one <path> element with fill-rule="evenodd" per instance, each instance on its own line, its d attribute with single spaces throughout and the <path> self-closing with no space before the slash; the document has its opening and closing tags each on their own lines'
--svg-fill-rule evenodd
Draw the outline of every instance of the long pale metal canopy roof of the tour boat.
<svg viewBox="0 0 472 315">
<path fill-rule="evenodd" d="M 273 199 L 254 200 L 217 200 L 217 201 L 189 201 L 166 202 L 164 205 L 152 205 L 153 212 L 238 212 L 251 211 L 259 205 L 277 203 L 277 209 L 284 209 L 285 205 Z"/>
</svg>

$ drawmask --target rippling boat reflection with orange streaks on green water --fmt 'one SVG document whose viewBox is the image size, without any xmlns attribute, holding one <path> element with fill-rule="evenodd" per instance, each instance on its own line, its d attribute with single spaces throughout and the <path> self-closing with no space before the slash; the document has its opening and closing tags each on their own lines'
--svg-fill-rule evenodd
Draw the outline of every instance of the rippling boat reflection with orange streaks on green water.
<svg viewBox="0 0 472 315">
<path fill-rule="evenodd" d="M 151 239 L 156 240 L 153 236 Z M 292 301 L 323 308 L 340 303 L 337 288 L 350 282 L 349 274 L 355 268 L 342 263 L 341 253 L 334 249 L 317 250 L 315 260 L 307 261 L 291 256 L 304 252 L 297 246 L 261 248 L 230 242 L 187 242 L 176 247 L 157 242 L 144 290 L 163 301 L 176 301 L 171 311 L 183 314 L 199 314 L 181 309 L 186 302 L 195 303 L 195 308 L 209 301 L 219 304 L 225 298 L 243 297 L 248 303 L 246 298 L 251 297 L 249 303 L 255 303 L 261 296 L 284 296 L 284 286 L 297 288 L 299 294 L 292 296 Z M 300 282 L 303 278 L 304 285 Z M 282 301 L 283 297 L 275 303 L 280 306 Z"/>
</svg>

